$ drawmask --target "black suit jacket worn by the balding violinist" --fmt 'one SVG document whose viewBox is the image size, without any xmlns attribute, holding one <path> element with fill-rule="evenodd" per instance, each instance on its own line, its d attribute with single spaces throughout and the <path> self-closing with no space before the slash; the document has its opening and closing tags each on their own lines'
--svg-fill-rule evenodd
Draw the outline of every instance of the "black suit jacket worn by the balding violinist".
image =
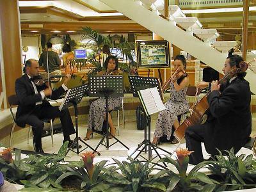
<svg viewBox="0 0 256 192">
<path fill-rule="evenodd" d="M 26 119 L 36 108 L 36 102 L 42 100 L 40 91 L 46 88 L 45 85 L 37 86 L 38 94 L 35 94 L 33 85 L 27 74 L 24 74 L 15 82 L 15 91 L 19 100 L 19 106 L 16 113 L 16 122 L 20 127 L 26 126 Z M 51 99 L 58 99 L 65 90 L 60 86 L 57 90 L 52 91 Z M 50 106 L 47 100 L 42 100 L 42 106 Z"/>
</svg>

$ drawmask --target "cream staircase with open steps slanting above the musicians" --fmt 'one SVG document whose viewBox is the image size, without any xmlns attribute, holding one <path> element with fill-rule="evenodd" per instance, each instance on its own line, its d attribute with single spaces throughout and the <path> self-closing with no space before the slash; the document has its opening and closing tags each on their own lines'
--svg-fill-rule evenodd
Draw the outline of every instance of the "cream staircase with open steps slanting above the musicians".
<svg viewBox="0 0 256 192">
<path fill-rule="evenodd" d="M 218 37 L 216 29 L 202 29 L 202 24 L 196 17 L 186 17 L 179 6 L 169 6 L 168 19 L 159 16 L 164 12 L 164 4 L 156 0 L 99 0 L 114 10 L 124 14 L 141 26 L 168 40 L 168 42 L 188 52 L 200 61 L 222 73 L 227 58 L 227 51 L 236 42 L 214 42 L 210 40 Z M 160 1 L 161 2 L 161 1 Z M 256 74 L 247 70 L 246 80 L 250 88 L 256 93 Z"/>
</svg>

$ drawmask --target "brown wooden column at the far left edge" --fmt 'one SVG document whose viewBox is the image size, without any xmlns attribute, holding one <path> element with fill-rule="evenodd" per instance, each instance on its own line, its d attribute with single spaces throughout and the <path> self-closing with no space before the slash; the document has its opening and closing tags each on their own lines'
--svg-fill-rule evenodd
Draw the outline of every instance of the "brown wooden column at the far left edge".
<svg viewBox="0 0 256 192">
<path fill-rule="evenodd" d="M 17 0 L 0 1 L 0 62 L 4 108 L 6 97 L 15 94 L 15 80 L 22 74 L 20 15 Z"/>
</svg>

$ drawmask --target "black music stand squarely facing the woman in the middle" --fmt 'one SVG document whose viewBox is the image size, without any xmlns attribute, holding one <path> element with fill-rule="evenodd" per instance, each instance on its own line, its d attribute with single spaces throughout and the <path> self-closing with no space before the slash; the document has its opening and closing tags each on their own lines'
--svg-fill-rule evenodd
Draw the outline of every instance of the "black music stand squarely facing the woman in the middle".
<svg viewBox="0 0 256 192">
<path fill-rule="evenodd" d="M 108 99 L 109 97 L 124 97 L 124 83 L 123 76 L 90 76 L 89 77 L 89 97 L 104 97 L 106 99 L 106 131 L 103 132 L 103 137 L 100 140 L 99 144 L 95 148 L 99 148 L 100 145 L 105 146 L 106 148 L 115 145 L 115 143 L 120 143 L 125 148 L 129 150 L 129 148 L 122 143 L 122 141 L 118 140 L 115 136 L 109 132 L 109 124 L 108 124 Z M 111 135 L 116 141 L 109 145 L 109 135 Z M 105 141 L 106 144 L 103 144 Z"/>
</svg>

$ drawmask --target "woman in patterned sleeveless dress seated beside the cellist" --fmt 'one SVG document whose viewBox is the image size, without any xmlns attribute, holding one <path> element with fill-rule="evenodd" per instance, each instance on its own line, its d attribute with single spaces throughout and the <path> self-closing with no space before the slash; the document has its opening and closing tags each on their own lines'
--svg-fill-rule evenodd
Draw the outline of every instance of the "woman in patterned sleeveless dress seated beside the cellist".
<svg viewBox="0 0 256 192">
<path fill-rule="evenodd" d="M 186 68 L 186 60 L 183 55 L 177 55 L 173 62 L 175 70 L 180 67 L 180 70 Z M 157 117 L 156 130 L 152 143 L 157 144 L 157 140 L 164 134 L 170 140 L 172 135 L 172 127 L 179 127 L 178 115 L 186 113 L 189 109 L 188 101 L 186 100 L 186 92 L 188 89 L 188 76 L 177 79 L 176 76 L 171 76 L 170 83 L 170 99 L 164 104 L 166 109 L 160 111 Z M 175 141 L 173 141 L 175 143 Z"/>
</svg>

